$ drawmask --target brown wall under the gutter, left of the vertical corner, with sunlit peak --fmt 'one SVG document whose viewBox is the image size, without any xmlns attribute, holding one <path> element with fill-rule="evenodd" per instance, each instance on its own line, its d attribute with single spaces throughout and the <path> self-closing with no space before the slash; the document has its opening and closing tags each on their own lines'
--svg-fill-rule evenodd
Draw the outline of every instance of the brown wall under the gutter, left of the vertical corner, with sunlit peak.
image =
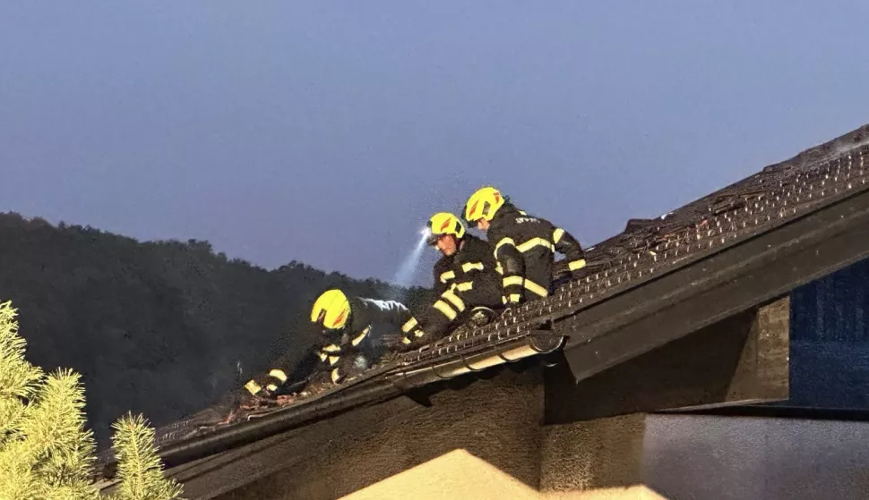
<svg viewBox="0 0 869 500">
<path fill-rule="evenodd" d="M 384 480 L 387 487 L 408 480 L 423 484 L 417 476 L 461 491 L 483 484 L 482 476 L 468 475 L 473 469 L 491 472 L 486 491 L 491 484 L 502 485 L 504 492 L 536 490 L 543 416 L 539 369 L 500 369 L 460 391 L 431 394 L 430 401 L 426 408 L 402 397 L 288 433 L 259 453 L 269 457 L 262 466 L 274 468 L 267 477 L 220 498 L 314 500 L 354 492 L 365 497 L 372 493 L 364 493 L 366 487 Z M 457 479 L 456 470 L 464 470 L 465 477 Z M 401 476 L 404 471 L 412 472 Z M 195 488 L 213 488 L 214 480 L 219 479 L 193 477 L 185 489 L 195 495 Z M 460 491 L 453 490 L 452 497 L 462 496 Z"/>
</svg>

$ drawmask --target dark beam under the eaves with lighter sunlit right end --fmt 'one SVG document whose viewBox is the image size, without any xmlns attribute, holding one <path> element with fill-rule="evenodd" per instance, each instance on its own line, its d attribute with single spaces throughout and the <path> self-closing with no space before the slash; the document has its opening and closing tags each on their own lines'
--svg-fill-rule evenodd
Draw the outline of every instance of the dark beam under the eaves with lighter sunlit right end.
<svg viewBox="0 0 869 500">
<path fill-rule="evenodd" d="M 561 363 L 546 370 L 546 423 L 786 400 L 789 338 L 784 297 L 579 383 Z"/>
</svg>

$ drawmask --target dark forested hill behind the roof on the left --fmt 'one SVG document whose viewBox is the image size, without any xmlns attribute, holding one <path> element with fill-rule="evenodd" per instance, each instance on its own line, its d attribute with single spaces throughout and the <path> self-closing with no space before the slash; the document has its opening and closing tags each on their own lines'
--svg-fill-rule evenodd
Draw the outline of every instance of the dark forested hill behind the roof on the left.
<svg viewBox="0 0 869 500">
<path fill-rule="evenodd" d="M 100 446 L 127 410 L 163 425 L 214 403 L 281 350 L 301 359 L 316 342 L 310 307 L 330 287 L 411 308 L 429 293 L 295 261 L 268 271 L 208 242 L 138 242 L 0 214 L 0 301 L 19 309 L 31 362 L 82 373 Z"/>
</svg>

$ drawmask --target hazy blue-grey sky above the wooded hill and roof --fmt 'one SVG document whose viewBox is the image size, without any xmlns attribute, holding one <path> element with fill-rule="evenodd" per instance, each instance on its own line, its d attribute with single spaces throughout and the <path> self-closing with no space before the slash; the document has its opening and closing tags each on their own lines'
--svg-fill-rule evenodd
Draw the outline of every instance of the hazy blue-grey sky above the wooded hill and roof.
<svg viewBox="0 0 869 500">
<path fill-rule="evenodd" d="M 391 279 L 428 216 L 492 183 L 590 245 L 869 122 L 867 19 L 857 0 L 10 0 L 0 211 Z"/>
</svg>

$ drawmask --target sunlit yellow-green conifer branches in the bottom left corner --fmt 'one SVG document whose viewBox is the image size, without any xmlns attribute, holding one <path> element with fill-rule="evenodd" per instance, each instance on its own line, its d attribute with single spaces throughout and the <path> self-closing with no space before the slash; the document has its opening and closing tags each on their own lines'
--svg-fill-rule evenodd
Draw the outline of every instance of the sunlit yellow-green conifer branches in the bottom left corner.
<svg viewBox="0 0 869 500">
<path fill-rule="evenodd" d="M 81 376 L 71 369 L 45 374 L 24 358 L 17 310 L 0 303 L 0 498 L 99 498 L 92 482 L 96 441 L 86 428 Z M 116 500 L 172 499 L 181 494 L 162 475 L 154 431 L 127 414 L 113 426 L 122 484 Z"/>
</svg>

